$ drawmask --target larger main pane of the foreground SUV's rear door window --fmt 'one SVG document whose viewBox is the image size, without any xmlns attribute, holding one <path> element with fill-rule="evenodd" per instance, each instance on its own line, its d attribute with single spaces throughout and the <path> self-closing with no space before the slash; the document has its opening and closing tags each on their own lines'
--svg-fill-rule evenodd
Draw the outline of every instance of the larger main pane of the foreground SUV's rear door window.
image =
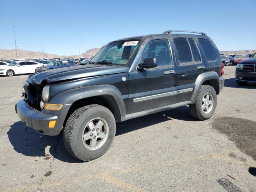
<svg viewBox="0 0 256 192">
<path fill-rule="evenodd" d="M 190 46 L 187 38 L 175 38 L 174 44 L 178 53 L 179 63 L 193 62 Z"/>
</svg>

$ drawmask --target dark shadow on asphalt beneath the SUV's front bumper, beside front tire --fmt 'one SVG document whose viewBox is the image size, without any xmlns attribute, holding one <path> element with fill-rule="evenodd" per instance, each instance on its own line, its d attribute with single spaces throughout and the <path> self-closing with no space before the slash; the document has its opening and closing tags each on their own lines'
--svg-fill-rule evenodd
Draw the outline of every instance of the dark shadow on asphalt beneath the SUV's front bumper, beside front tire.
<svg viewBox="0 0 256 192">
<path fill-rule="evenodd" d="M 82 162 L 67 152 L 64 146 L 62 133 L 58 136 L 42 135 L 32 128 L 27 128 L 22 121 L 19 121 L 11 125 L 7 134 L 10 143 L 16 152 L 25 156 L 38 157 L 34 160 L 39 161 L 56 158 L 68 163 Z M 51 156 L 45 152 L 47 146 L 50 146 L 49 152 Z"/>
</svg>

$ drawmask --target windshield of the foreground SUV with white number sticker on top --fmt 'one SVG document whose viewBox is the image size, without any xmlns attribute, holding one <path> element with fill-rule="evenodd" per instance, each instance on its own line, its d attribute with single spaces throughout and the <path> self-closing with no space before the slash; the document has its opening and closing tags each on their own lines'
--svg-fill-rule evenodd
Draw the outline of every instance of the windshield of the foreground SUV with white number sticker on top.
<svg viewBox="0 0 256 192">
<path fill-rule="evenodd" d="M 90 63 L 126 65 L 130 62 L 139 41 L 122 40 L 107 44 Z"/>
</svg>

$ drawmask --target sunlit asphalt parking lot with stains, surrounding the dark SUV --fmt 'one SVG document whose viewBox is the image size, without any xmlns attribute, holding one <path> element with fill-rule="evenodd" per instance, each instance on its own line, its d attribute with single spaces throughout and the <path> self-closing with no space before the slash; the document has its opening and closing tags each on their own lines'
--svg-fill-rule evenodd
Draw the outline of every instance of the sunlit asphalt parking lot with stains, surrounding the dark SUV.
<svg viewBox="0 0 256 192">
<path fill-rule="evenodd" d="M 102 157 L 81 162 L 62 134 L 44 136 L 15 113 L 28 75 L 0 77 L 0 191 L 256 192 L 256 84 L 238 86 L 224 68 L 224 90 L 212 118 L 188 106 L 117 124 Z"/>
</svg>

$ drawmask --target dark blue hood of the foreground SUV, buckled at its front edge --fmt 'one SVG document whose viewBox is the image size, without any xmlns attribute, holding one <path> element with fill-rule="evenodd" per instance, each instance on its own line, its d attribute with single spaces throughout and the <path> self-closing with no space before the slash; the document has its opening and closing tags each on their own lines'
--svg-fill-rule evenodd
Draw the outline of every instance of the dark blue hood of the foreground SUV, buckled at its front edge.
<svg viewBox="0 0 256 192">
<path fill-rule="evenodd" d="M 79 78 L 86 78 L 92 76 L 101 76 L 108 74 L 128 72 L 129 68 L 126 66 L 108 66 L 100 64 L 88 64 L 83 66 L 72 66 L 65 68 L 58 68 L 53 70 L 46 70 L 32 74 L 28 77 L 29 83 L 41 84 L 43 80 L 48 83 L 56 81 L 65 81 Z"/>
</svg>

